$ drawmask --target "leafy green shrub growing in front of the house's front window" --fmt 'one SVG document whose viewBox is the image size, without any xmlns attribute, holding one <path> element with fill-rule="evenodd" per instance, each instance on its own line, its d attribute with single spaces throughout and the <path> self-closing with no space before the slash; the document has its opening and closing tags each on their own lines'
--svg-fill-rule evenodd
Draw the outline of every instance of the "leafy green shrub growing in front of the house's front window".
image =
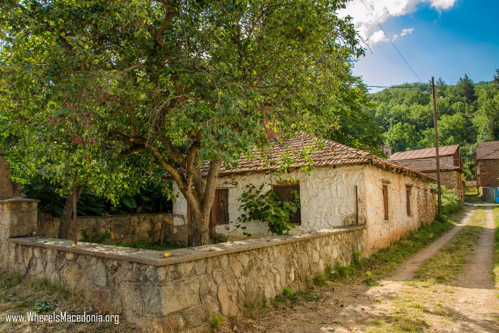
<svg viewBox="0 0 499 333">
<path fill-rule="evenodd" d="M 247 190 L 238 199 L 242 202 L 240 209 L 244 213 L 236 221 L 236 228 L 244 231 L 247 227 L 242 224 L 261 221 L 268 225 L 268 231 L 273 235 L 287 235 L 295 227 L 290 220 L 300 208 L 300 194 L 293 191 L 294 200 L 280 200 L 272 189 L 263 192 L 265 186 L 266 183 L 258 188 L 253 184 L 246 185 Z M 251 236 L 246 231 L 243 233 L 248 237 Z"/>
</svg>

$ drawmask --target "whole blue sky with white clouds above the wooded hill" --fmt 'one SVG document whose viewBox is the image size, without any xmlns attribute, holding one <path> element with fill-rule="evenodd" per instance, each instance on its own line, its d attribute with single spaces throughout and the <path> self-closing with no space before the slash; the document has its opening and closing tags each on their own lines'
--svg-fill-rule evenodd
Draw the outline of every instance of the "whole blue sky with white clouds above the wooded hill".
<svg viewBox="0 0 499 333">
<path fill-rule="evenodd" d="M 353 69 L 366 85 L 419 79 L 362 1 L 423 82 L 435 76 L 456 84 L 465 73 L 490 81 L 499 68 L 498 0 L 352 0 L 340 15 L 353 17 L 369 45 Z"/>
</svg>

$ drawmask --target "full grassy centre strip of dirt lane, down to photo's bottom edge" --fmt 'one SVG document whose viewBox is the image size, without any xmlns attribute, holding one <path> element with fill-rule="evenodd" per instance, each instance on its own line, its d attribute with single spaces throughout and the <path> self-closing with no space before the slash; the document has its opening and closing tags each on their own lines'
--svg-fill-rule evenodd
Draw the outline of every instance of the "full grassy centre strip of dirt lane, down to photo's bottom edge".
<svg viewBox="0 0 499 333">
<path fill-rule="evenodd" d="M 456 287 L 449 285 L 478 244 L 485 214 L 483 209 L 477 209 L 470 222 L 421 266 L 414 275 L 416 280 L 405 283 L 402 295 L 391 299 L 393 311 L 371 322 L 367 332 L 429 332 L 435 323 L 452 327 L 452 309 L 446 306 L 446 300 Z"/>
</svg>

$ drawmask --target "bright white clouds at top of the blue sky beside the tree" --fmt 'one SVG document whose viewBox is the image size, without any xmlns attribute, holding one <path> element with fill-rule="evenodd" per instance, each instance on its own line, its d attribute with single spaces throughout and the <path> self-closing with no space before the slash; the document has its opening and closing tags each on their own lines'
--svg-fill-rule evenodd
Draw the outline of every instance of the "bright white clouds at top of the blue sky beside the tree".
<svg viewBox="0 0 499 333">
<path fill-rule="evenodd" d="M 422 3 L 430 3 L 431 7 L 440 12 L 441 10 L 451 8 L 457 0 L 364 0 L 364 2 L 378 22 L 383 24 L 383 22 L 390 17 L 403 16 L 416 11 L 418 5 Z M 375 19 L 361 0 L 352 0 L 351 2 L 348 2 L 346 9 L 340 11 L 340 15 L 352 16 L 355 28 L 359 31 L 361 36 L 369 40 L 370 44 L 388 41 L 386 36 L 383 38 L 381 35 L 383 34 L 383 31 L 379 30 L 378 23 L 376 23 Z M 395 35 L 394 38 L 405 36 L 406 34 L 412 33 L 412 31 L 413 29 L 404 29 L 400 35 Z"/>
</svg>

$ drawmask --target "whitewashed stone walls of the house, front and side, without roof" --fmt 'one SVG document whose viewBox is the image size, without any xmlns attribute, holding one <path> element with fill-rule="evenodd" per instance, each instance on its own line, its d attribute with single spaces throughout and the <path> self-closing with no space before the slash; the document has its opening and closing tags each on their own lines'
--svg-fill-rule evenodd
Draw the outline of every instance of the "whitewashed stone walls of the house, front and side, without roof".
<svg viewBox="0 0 499 333">
<path fill-rule="evenodd" d="M 311 177 L 300 171 L 291 172 L 288 176 L 294 176 L 300 184 L 301 225 L 293 229 L 291 234 L 367 224 L 369 237 L 366 249 L 372 253 L 417 229 L 422 222 L 435 219 L 435 197 L 430 191 L 430 181 L 407 172 L 387 171 L 374 165 L 350 165 L 316 168 Z M 241 216 L 238 199 L 247 189 L 246 185 L 252 183 L 258 186 L 267 183 L 269 178 L 270 175 L 264 173 L 249 173 L 219 179 L 218 187 L 229 189 L 231 222 Z M 388 186 L 389 193 L 388 221 L 384 220 L 383 184 Z M 406 186 L 412 188 L 412 214 L 409 216 L 406 211 Z M 267 186 L 265 190 L 269 188 Z M 174 190 L 178 191 L 175 185 Z M 181 193 L 173 205 L 173 211 L 179 215 L 187 212 L 187 202 Z M 246 226 L 252 238 L 269 236 L 264 223 L 251 222 L 246 223 Z M 216 232 L 217 238 L 222 240 L 247 238 L 233 223 L 218 225 Z"/>
</svg>

